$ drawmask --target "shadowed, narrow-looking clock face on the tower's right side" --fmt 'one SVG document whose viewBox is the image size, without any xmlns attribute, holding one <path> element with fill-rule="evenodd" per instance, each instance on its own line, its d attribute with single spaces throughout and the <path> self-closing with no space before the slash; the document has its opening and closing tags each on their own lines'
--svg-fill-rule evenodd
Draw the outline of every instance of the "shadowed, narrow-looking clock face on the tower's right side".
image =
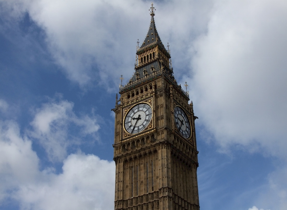
<svg viewBox="0 0 287 210">
<path fill-rule="evenodd" d="M 191 129 L 187 115 L 178 106 L 174 109 L 174 121 L 179 133 L 186 139 L 190 137 Z"/>
</svg>

